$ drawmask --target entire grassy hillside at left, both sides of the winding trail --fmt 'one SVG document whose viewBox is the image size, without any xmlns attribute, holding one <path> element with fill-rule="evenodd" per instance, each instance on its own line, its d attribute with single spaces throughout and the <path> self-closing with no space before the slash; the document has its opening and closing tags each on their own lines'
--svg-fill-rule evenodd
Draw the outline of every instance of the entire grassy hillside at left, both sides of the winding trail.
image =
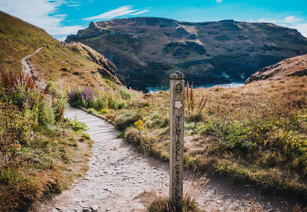
<svg viewBox="0 0 307 212">
<path fill-rule="evenodd" d="M 91 48 L 82 44 L 62 48 L 41 28 L 1 11 L 0 19 L 0 67 L 21 71 L 21 59 L 46 46 L 28 59 L 34 75 L 42 77 L 45 83 L 60 78 L 81 86 L 119 87 L 120 82 L 108 70 L 116 71 L 116 67 Z"/>
</svg>

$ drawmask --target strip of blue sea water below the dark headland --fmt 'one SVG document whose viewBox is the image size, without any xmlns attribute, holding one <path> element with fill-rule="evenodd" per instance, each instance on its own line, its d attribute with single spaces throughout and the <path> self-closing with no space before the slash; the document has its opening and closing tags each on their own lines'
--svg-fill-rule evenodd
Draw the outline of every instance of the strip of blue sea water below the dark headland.
<svg viewBox="0 0 307 212">
<path fill-rule="evenodd" d="M 233 81 L 227 84 L 193 84 L 193 88 L 200 88 L 200 87 L 211 88 L 214 86 L 219 86 L 224 88 L 237 88 L 244 85 L 244 82 L 245 81 Z M 149 89 L 149 93 L 153 93 L 156 91 L 166 91 L 169 89 L 169 85 L 147 84 L 147 89 Z"/>
</svg>

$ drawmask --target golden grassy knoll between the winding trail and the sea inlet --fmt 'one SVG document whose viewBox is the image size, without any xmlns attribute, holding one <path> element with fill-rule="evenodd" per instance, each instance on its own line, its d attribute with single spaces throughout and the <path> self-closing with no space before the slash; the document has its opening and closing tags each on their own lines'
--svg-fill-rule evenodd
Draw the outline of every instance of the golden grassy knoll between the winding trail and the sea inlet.
<svg viewBox="0 0 307 212">
<path fill-rule="evenodd" d="M 70 85 L 119 88 L 121 84 L 110 69 L 117 68 L 102 55 L 83 44 L 65 47 L 47 46 L 28 59 L 34 75 L 48 81 L 65 81 Z"/>
</svg>

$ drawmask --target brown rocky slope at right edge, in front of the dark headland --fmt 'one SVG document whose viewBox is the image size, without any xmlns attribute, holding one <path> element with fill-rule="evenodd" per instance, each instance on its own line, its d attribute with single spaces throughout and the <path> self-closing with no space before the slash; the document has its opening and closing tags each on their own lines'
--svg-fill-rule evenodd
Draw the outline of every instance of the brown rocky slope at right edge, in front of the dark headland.
<svg viewBox="0 0 307 212">
<path fill-rule="evenodd" d="M 301 77 L 307 75 L 307 55 L 301 55 L 265 67 L 252 74 L 245 84 L 259 80 L 279 80 L 286 77 Z"/>
</svg>

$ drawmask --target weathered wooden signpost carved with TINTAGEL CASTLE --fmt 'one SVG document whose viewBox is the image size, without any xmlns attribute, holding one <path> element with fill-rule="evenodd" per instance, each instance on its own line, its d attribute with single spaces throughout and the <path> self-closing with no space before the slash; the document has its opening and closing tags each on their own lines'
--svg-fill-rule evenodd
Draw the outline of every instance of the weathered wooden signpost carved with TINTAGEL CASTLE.
<svg viewBox="0 0 307 212">
<path fill-rule="evenodd" d="M 169 81 L 169 200 L 176 211 L 181 211 L 183 196 L 183 130 L 185 113 L 185 75 L 179 71 L 170 75 Z"/>
</svg>

